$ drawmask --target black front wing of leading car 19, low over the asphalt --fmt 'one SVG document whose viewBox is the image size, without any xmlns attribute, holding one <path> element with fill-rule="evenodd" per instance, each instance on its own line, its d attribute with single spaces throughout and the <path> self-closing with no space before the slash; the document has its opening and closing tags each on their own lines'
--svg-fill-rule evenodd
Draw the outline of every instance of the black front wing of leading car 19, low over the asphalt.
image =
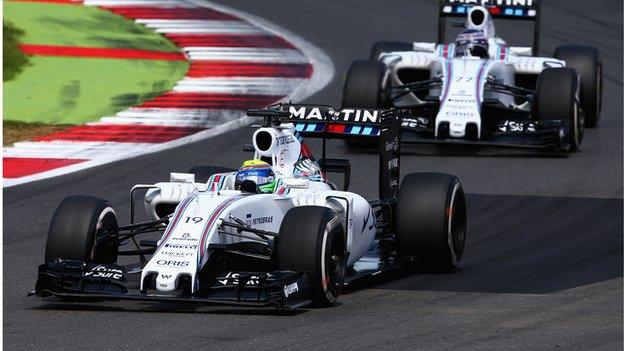
<svg viewBox="0 0 624 351">
<path fill-rule="evenodd" d="M 227 272 L 209 288 L 194 294 L 131 291 L 122 266 L 58 260 L 39 266 L 35 290 L 29 295 L 80 301 L 135 300 L 209 305 L 296 309 L 309 305 L 310 284 L 305 272 Z"/>
</svg>

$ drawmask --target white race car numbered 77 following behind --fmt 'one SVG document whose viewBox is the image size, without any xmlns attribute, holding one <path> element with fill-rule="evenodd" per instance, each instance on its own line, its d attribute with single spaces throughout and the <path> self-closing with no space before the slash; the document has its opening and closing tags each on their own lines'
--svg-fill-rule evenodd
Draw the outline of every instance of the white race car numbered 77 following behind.
<svg viewBox="0 0 624 351">
<path fill-rule="evenodd" d="M 416 117 L 402 124 L 409 143 L 576 150 L 600 118 L 598 50 L 561 46 L 554 58 L 535 57 L 538 0 L 476 2 L 440 1 L 438 42 L 447 17 L 466 18 L 454 43 L 376 43 L 349 68 L 343 108 L 411 109 Z M 508 46 L 493 18 L 532 21 L 533 47 Z"/>
</svg>

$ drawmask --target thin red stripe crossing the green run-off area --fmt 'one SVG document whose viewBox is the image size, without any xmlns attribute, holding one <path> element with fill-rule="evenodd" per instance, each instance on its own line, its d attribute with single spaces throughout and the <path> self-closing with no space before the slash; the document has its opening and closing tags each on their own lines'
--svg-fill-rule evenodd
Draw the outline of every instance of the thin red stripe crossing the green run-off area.
<svg viewBox="0 0 624 351">
<path fill-rule="evenodd" d="M 142 60 L 186 60 L 179 52 L 162 52 L 153 50 L 136 49 L 112 49 L 58 45 L 31 45 L 22 44 L 20 49 L 27 55 L 38 56 L 74 56 L 74 57 L 102 57 L 116 59 L 142 59 Z"/>
</svg>

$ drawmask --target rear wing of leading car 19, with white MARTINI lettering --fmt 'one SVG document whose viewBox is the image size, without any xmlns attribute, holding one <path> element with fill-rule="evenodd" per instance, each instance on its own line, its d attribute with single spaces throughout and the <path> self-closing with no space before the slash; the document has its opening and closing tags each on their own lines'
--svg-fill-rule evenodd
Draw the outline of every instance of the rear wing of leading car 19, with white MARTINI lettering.
<svg viewBox="0 0 624 351">
<path fill-rule="evenodd" d="M 263 117 L 265 127 L 293 123 L 309 138 L 323 139 L 323 160 L 327 139 L 369 140 L 379 149 L 379 198 L 391 201 L 399 190 L 402 110 L 343 109 L 327 105 L 277 104 L 262 110 L 248 110 L 250 117 Z"/>
</svg>

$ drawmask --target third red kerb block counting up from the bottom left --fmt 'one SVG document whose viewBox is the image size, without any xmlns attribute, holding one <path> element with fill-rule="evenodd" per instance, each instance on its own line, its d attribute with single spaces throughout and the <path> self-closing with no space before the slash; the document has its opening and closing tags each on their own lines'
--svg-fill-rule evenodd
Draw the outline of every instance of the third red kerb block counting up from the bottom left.
<svg viewBox="0 0 624 351">
<path fill-rule="evenodd" d="M 144 102 L 144 108 L 205 108 L 246 110 L 268 106 L 283 96 L 167 92 Z"/>
</svg>

